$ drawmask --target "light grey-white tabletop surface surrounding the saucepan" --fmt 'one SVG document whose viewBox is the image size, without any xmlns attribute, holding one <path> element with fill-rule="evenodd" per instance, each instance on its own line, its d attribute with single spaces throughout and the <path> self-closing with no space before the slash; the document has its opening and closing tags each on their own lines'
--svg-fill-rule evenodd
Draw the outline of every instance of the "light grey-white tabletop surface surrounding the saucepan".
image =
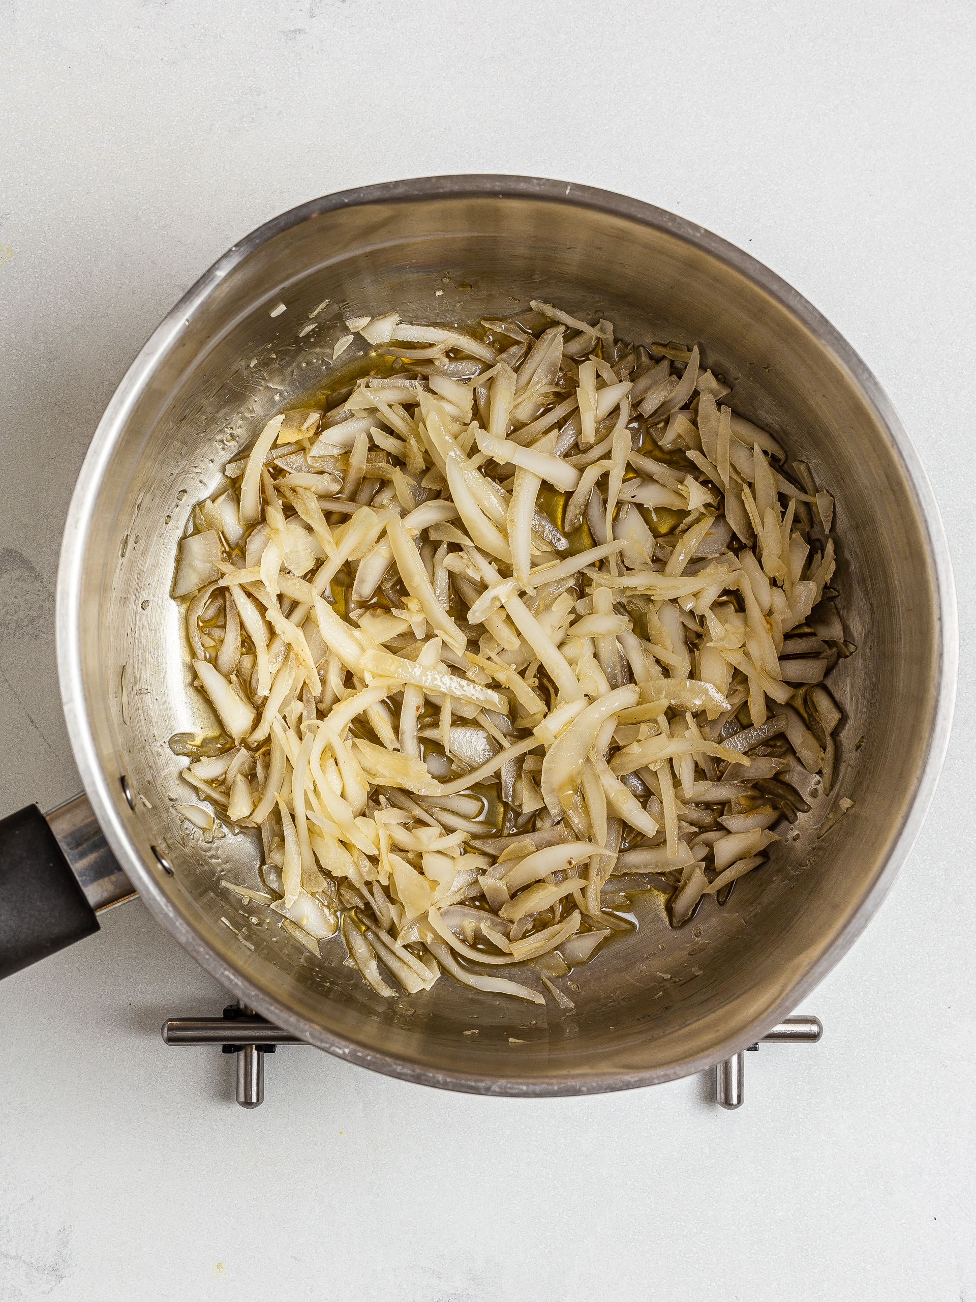
<svg viewBox="0 0 976 1302">
<path fill-rule="evenodd" d="M 139 904 L 0 987 L 0 1299 L 976 1299 L 973 10 L 578 0 L 0 3 L 0 815 L 78 779 L 53 587 L 91 434 L 164 312 L 305 199 L 553 176 L 701 223 L 847 336 L 933 479 L 956 727 L 816 1048 L 703 1079 L 472 1099 L 306 1048 L 232 1100 L 167 1049 L 223 992 Z"/>
</svg>

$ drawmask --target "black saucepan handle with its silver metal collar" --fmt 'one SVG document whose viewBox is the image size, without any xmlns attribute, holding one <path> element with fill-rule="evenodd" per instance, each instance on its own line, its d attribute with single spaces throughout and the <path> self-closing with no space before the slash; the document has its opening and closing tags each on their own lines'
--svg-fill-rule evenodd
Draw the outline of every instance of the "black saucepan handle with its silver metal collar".
<svg viewBox="0 0 976 1302">
<path fill-rule="evenodd" d="M 0 820 L 0 979 L 99 930 L 96 913 L 135 891 L 87 797 Z"/>
</svg>

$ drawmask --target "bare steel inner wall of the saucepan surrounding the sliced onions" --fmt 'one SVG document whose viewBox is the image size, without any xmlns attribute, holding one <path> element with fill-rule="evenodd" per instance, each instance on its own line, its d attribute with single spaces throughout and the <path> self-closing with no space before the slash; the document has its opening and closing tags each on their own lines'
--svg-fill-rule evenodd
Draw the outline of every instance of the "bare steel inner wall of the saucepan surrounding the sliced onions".
<svg viewBox="0 0 976 1302">
<path fill-rule="evenodd" d="M 835 792 L 856 805 L 829 835 L 807 829 L 776 846 L 725 907 L 708 900 L 692 926 L 670 930 L 660 897 L 640 897 L 638 930 L 574 974 L 573 1012 L 475 995 L 449 978 L 384 1004 L 344 966 L 338 937 L 316 961 L 278 927 L 251 923 L 264 910 L 219 887 L 221 876 L 259 884 L 251 837 L 204 845 L 181 831 L 172 803 L 193 797 L 178 780 L 185 762 L 167 740 L 210 719 L 189 686 L 181 616 L 168 596 L 173 557 L 194 501 L 212 490 L 233 449 L 285 400 L 328 376 L 344 314 L 396 307 L 420 320 L 462 320 L 510 314 L 530 298 L 608 316 L 634 341 L 700 342 L 704 362 L 733 384 L 734 408 L 776 432 L 835 495 L 834 582 L 859 647 L 830 680 L 846 711 Z M 272 316 L 280 302 L 286 311 Z M 306 333 L 312 320 L 319 324 Z M 798 316 L 664 223 L 491 195 L 306 215 L 230 270 L 161 350 L 107 469 L 85 547 L 86 708 L 146 865 L 150 906 L 181 914 L 228 970 L 254 983 L 268 1016 L 290 1009 L 320 1044 L 334 1048 L 338 1038 L 360 1059 L 392 1056 L 406 1070 L 433 1073 L 427 1079 L 444 1073 L 459 1074 L 461 1087 L 599 1088 L 665 1079 L 724 1056 L 822 975 L 882 874 L 929 745 L 940 654 L 934 579 L 925 525 L 889 432 Z M 134 812 L 121 797 L 122 773 L 137 793 Z M 159 870 L 151 845 L 164 849 L 173 878 Z"/>
</svg>

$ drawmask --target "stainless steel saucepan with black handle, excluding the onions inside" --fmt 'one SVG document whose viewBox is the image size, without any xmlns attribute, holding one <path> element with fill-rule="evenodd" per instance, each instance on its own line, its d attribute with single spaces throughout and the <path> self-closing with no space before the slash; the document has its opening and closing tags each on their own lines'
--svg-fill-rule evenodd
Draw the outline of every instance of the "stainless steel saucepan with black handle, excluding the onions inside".
<svg viewBox="0 0 976 1302">
<path fill-rule="evenodd" d="M 172 805 L 189 796 L 167 742 L 207 720 L 169 598 L 173 557 L 232 450 L 328 374 L 342 315 L 396 307 L 461 320 L 530 298 L 608 316 L 623 339 L 700 342 L 737 409 L 779 432 L 835 495 L 835 583 L 859 652 L 832 677 L 846 719 L 829 799 L 855 805 L 826 835 L 811 825 L 785 841 L 725 907 L 709 901 L 700 936 L 698 926 L 670 930 L 648 896 L 639 930 L 578 975 L 571 1013 L 527 1012 L 449 979 L 384 1003 L 344 966 L 340 939 L 316 961 L 220 889 L 221 876 L 242 880 L 256 866 L 247 836 L 207 845 L 181 833 Z M 878 907 L 921 827 L 956 671 L 932 491 L 837 331 L 765 267 L 681 217 L 601 190 L 495 176 L 316 199 L 255 230 L 194 285 L 92 440 L 61 552 L 57 646 L 94 819 L 82 797 L 47 822 L 31 807 L 0 824 L 3 966 L 92 930 L 88 900 L 117 898 L 128 876 L 180 944 L 276 1026 L 409 1081 L 510 1095 L 687 1075 L 794 1009 Z"/>
</svg>

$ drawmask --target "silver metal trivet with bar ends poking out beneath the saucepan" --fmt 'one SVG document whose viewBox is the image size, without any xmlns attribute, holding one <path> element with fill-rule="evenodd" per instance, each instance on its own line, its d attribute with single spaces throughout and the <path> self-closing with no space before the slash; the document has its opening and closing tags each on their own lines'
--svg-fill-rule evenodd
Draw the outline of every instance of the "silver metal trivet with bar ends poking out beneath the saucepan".
<svg viewBox="0 0 976 1302">
<path fill-rule="evenodd" d="M 816 1044 L 824 1034 L 816 1017 L 787 1017 L 763 1036 L 761 1044 Z M 237 1101 L 256 1108 L 264 1101 L 264 1055 L 278 1044 L 305 1044 L 297 1035 L 272 1026 L 263 1017 L 229 1004 L 223 1017 L 170 1017 L 163 1023 L 165 1044 L 220 1044 L 237 1060 Z M 759 1044 L 746 1052 L 755 1053 Z M 716 1068 L 716 1098 L 724 1108 L 740 1108 L 746 1100 L 744 1053 L 726 1059 Z"/>
</svg>

